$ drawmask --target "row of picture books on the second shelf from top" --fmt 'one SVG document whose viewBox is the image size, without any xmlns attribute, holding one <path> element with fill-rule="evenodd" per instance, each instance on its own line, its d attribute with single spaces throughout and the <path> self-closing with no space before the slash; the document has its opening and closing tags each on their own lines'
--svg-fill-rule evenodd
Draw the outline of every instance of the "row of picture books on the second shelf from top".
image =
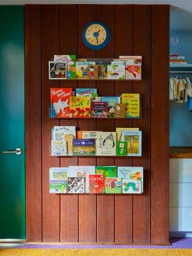
<svg viewBox="0 0 192 256">
<path fill-rule="evenodd" d="M 140 118 L 138 93 L 99 97 L 97 88 L 51 88 L 50 98 L 50 117 Z"/>
</svg>

